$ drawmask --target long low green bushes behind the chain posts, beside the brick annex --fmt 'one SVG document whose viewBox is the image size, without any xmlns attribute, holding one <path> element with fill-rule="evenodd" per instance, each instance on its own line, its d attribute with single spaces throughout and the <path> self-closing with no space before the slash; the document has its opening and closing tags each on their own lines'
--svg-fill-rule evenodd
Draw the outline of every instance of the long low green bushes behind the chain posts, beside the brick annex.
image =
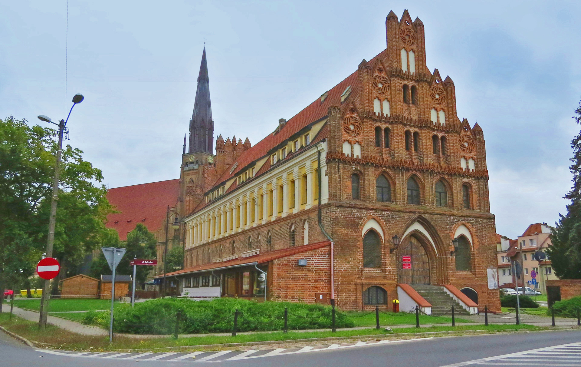
<svg viewBox="0 0 581 367">
<path fill-rule="evenodd" d="M 180 333 L 232 332 L 234 310 L 239 310 L 238 331 L 272 331 L 284 327 L 284 309 L 288 307 L 289 330 L 327 329 L 332 325 L 331 307 L 290 302 L 255 302 L 238 298 L 217 298 L 211 301 L 192 301 L 177 298 L 158 298 L 120 305 L 114 310 L 114 332 L 132 334 L 171 334 L 175 330 L 176 314 L 181 313 Z M 109 312 L 91 313 L 84 323 L 109 326 Z M 352 327 L 353 320 L 336 312 L 336 327 Z"/>
</svg>

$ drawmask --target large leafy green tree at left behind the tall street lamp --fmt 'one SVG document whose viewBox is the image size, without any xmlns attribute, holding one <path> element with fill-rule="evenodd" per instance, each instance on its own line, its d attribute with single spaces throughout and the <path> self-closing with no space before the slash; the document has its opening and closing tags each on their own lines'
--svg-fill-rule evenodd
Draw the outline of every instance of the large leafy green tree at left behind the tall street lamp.
<svg viewBox="0 0 581 367">
<path fill-rule="evenodd" d="M 58 131 L 26 120 L 0 120 L 0 282 L 21 282 L 34 274 L 46 245 Z M 63 148 L 53 256 L 59 276 L 76 268 L 93 250 L 113 212 L 101 170 L 83 151 Z M 58 284 L 58 278 L 55 280 Z"/>
</svg>

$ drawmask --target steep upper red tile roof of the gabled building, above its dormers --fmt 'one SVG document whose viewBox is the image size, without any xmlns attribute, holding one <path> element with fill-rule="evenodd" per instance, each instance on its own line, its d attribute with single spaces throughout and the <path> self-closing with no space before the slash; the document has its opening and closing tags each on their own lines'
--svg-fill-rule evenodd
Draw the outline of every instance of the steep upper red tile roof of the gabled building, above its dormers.
<svg viewBox="0 0 581 367">
<path fill-rule="evenodd" d="M 368 63 L 370 65 L 375 65 L 376 61 L 385 58 L 386 54 L 387 49 L 372 58 Z M 309 124 L 327 116 L 329 106 L 342 105 L 341 95 L 347 89 L 347 87 L 351 87 L 351 93 L 349 98 L 343 102 L 343 105 L 349 104 L 350 101 L 353 100 L 353 97 L 358 94 L 358 85 L 359 83 L 357 79 L 357 71 L 355 71 L 339 84 L 335 85 L 335 87 L 331 88 L 327 92 L 328 94 L 327 98 L 325 98 L 325 101 L 321 102 L 321 98 L 315 99 L 313 103 L 289 119 L 285 126 L 277 134 L 268 134 L 265 138 L 263 138 L 263 140 L 257 142 L 252 148 L 248 149 L 248 151 L 239 156 L 236 161 L 232 162 L 232 166 L 238 162 L 236 169 L 232 173 L 230 173 L 229 169 L 225 170 L 222 176 L 216 181 L 216 184 L 223 183 L 231 177 L 236 176 L 236 174 L 245 169 L 247 165 L 268 154 L 268 152 L 276 148 L 277 145 L 281 144 L 285 140 L 288 140 L 291 136 L 298 133 L 304 127 L 309 126 Z"/>
</svg>

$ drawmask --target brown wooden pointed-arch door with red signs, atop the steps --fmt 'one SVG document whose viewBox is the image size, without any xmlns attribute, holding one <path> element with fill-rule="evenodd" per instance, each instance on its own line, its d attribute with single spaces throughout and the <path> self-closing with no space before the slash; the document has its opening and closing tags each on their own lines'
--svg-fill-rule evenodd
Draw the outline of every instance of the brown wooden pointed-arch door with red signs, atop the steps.
<svg viewBox="0 0 581 367">
<path fill-rule="evenodd" d="M 407 237 L 397 249 L 397 282 L 414 286 L 430 284 L 428 253 L 414 236 Z"/>
</svg>

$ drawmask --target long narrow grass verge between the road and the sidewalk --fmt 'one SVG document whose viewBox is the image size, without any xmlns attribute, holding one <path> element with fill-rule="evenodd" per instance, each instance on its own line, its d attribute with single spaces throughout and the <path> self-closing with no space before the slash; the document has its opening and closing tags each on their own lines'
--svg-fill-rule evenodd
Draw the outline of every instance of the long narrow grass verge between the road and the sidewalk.
<svg viewBox="0 0 581 367">
<path fill-rule="evenodd" d="M 87 350 L 87 351 L 110 351 L 110 350 L 132 350 L 132 349 L 153 349 L 162 347 L 175 347 L 175 351 L 180 350 L 180 347 L 186 350 L 196 350 L 196 345 L 207 344 L 224 344 L 224 343 L 252 343 L 255 341 L 277 341 L 277 340 L 297 340 L 309 338 L 325 338 L 325 337 L 364 337 L 385 335 L 383 329 L 361 329 L 361 330 L 339 330 L 336 333 L 332 332 L 282 332 L 273 333 L 256 333 L 256 334 L 238 334 L 238 336 L 205 336 L 205 337 L 189 337 L 172 339 L 168 337 L 160 337 L 155 339 L 134 339 L 128 337 L 114 337 L 113 343 L 109 344 L 107 337 L 101 336 L 85 336 L 68 332 L 67 330 L 59 329 L 56 326 L 47 325 L 46 330 L 39 330 L 36 322 L 21 319 L 13 316 L 12 320 L 8 319 L 8 313 L 0 313 L 0 325 L 13 333 L 19 334 L 33 342 L 45 343 L 47 347 L 62 350 Z M 546 330 L 548 327 L 536 327 L 531 325 L 459 325 L 452 326 L 433 326 L 433 327 L 406 327 L 403 329 L 394 329 L 394 334 L 401 333 L 425 333 L 425 332 L 454 332 L 461 330 Z M 443 333 L 443 335 L 447 335 Z M 198 350 L 201 348 L 198 348 Z M 217 349 L 220 349 L 219 347 Z M 163 350 L 164 352 L 171 350 Z"/>
</svg>

